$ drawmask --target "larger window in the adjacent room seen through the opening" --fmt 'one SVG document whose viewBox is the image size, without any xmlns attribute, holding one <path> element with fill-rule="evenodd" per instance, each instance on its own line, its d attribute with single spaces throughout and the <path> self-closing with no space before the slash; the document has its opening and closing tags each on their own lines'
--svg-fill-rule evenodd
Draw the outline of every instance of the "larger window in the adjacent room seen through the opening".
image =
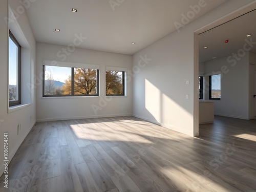
<svg viewBox="0 0 256 192">
<path fill-rule="evenodd" d="M 209 76 L 209 99 L 221 99 L 221 75 Z"/>
</svg>

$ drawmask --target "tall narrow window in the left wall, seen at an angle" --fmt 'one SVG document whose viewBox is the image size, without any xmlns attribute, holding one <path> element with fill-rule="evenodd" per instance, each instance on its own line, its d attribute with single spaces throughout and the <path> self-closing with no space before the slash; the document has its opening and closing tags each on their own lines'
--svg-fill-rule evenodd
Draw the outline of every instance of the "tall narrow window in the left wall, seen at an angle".
<svg viewBox="0 0 256 192">
<path fill-rule="evenodd" d="M 9 106 L 20 104 L 20 45 L 9 31 Z"/>
</svg>

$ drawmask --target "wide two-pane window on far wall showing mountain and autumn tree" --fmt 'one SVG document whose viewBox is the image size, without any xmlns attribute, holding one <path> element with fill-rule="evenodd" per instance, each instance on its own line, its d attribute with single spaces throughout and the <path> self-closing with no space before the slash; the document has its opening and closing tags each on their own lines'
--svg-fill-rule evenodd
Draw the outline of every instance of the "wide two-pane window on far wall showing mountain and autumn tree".
<svg viewBox="0 0 256 192">
<path fill-rule="evenodd" d="M 99 70 L 43 66 L 43 96 L 98 96 Z"/>
</svg>

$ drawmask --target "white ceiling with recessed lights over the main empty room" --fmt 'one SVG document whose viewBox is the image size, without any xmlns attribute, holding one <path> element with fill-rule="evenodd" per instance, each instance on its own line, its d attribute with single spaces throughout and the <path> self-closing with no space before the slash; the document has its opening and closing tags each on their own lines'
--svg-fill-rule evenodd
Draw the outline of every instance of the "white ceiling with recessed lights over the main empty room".
<svg viewBox="0 0 256 192">
<path fill-rule="evenodd" d="M 195 18 L 227 0 L 205 0 Z M 114 8 L 110 2 L 115 2 Z M 80 48 L 134 54 L 176 30 L 181 14 L 198 0 L 37 0 L 26 13 L 37 42 L 68 46 L 75 34 Z M 71 11 L 77 9 L 77 13 Z M 191 19 L 193 20 L 193 19 Z M 60 32 L 55 32 L 55 29 Z M 136 42 L 132 45 L 131 42 Z M 210 44 L 209 44 L 210 47 Z"/>
</svg>

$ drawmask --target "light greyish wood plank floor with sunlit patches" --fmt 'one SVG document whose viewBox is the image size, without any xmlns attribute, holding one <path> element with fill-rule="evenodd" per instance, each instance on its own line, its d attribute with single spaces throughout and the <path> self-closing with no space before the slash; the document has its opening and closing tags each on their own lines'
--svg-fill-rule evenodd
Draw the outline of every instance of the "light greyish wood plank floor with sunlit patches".
<svg viewBox="0 0 256 192">
<path fill-rule="evenodd" d="M 135 117 L 36 123 L 0 191 L 256 191 L 256 120 L 217 116 L 198 138 Z"/>
</svg>

